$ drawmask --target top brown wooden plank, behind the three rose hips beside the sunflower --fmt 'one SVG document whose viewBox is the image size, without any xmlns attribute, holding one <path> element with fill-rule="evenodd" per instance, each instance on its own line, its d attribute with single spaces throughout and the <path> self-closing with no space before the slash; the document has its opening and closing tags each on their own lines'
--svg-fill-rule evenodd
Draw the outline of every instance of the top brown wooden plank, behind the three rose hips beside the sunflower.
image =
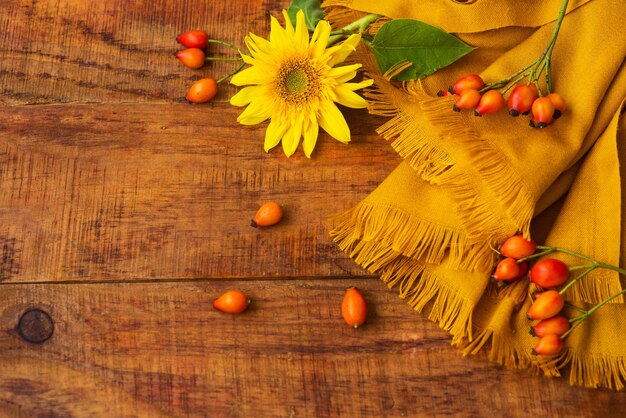
<svg viewBox="0 0 626 418">
<path fill-rule="evenodd" d="M 190 29 L 243 47 L 269 32 L 270 12 L 288 1 L 0 1 L 0 103 L 173 102 L 193 81 L 236 64 L 200 70 L 174 57 Z M 215 48 L 214 56 L 233 56 Z M 235 66 L 235 67 L 233 67 Z M 227 100 L 227 85 L 216 100 Z"/>
</svg>

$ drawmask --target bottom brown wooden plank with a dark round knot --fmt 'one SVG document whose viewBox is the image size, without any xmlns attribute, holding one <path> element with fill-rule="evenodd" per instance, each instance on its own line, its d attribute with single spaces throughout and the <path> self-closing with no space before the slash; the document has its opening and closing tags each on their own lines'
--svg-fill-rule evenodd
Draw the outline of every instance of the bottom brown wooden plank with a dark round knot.
<svg viewBox="0 0 626 418">
<path fill-rule="evenodd" d="M 372 313 L 341 319 L 346 287 Z M 253 299 L 231 316 L 227 288 Z M 55 331 L 15 332 L 29 308 Z M 0 285 L 0 409 L 26 416 L 615 416 L 626 397 L 464 358 L 376 279 Z M 152 409 L 150 409 L 152 408 Z M 158 414 L 157 414 L 158 412 Z"/>
</svg>

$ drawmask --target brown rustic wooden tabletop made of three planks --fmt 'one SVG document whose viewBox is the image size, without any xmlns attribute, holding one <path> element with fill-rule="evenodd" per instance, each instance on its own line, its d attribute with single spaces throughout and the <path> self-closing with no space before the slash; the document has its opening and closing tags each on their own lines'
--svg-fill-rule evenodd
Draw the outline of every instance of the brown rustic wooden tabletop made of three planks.
<svg viewBox="0 0 626 418">
<path fill-rule="evenodd" d="M 176 34 L 240 43 L 287 4 L 0 0 L 0 416 L 623 414 L 623 393 L 460 356 L 335 248 L 326 217 L 398 162 L 380 119 L 350 111 L 352 144 L 287 160 L 237 126 L 232 88 L 183 103 L 230 67 L 185 69 Z M 250 228 L 270 199 L 285 221 Z M 248 312 L 212 310 L 228 288 Z"/>
</svg>

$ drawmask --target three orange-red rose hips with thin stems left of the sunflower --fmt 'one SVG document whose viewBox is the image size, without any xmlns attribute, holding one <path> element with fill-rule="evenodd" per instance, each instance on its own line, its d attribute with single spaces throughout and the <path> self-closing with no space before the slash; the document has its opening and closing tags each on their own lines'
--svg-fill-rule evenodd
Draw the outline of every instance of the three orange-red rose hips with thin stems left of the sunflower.
<svg viewBox="0 0 626 418">
<path fill-rule="evenodd" d="M 176 53 L 176 58 L 180 60 L 188 68 L 199 69 L 204 67 L 207 61 L 241 61 L 241 57 L 237 58 L 220 58 L 220 57 L 207 57 L 205 50 L 209 43 L 218 43 L 229 48 L 238 50 L 234 45 L 228 42 L 218 41 L 215 39 L 209 39 L 206 32 L 201 30 L 191 30 L 183 34 L 178 35 L 176 38 L 179 44 L 183 45 L 186 49 L 180 50 Z M 189 88 L 187 91 L 187 101 L 189 103 L 206 103 L 211 101 L 217 95 L 217 86 L 222 81 L 230 78 L 243 68 L 243 64 L 232 73 L 215 80 L 213 77 L 202 78 Z"/>
</svg>

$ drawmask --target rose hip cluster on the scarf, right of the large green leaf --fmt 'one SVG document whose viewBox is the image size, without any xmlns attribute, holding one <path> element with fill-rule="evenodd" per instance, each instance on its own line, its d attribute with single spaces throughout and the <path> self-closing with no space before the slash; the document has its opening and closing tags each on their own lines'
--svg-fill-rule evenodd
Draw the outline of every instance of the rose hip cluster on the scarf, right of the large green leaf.
<svg viewBox="0 0 626 418">
<path fill-rule="evenodd" d="M 504 82 L 485 84 L 477 74 L 467 74 L 459 78 L 447 90 L 440 90 L 438 96 L 456 96 L 452 107 L 455 112 L 473 110 L 474 115 L 483 116 L 495 113 L 504 107 L 505 102 L 509 115 L 519 116 L 532 113 L 530 126 L 545 128 L 565 111 L 565 101 L 557 93 L 541 97 L 536 83 L 509 84 L 507 88 L 498 90 Z M 508 83 L 507 83 L 508 84 Z M 514 86 L 514 87 L 513 87 Z M 513 87 L 508 100 L 504 95 Z"/>
</svg>

